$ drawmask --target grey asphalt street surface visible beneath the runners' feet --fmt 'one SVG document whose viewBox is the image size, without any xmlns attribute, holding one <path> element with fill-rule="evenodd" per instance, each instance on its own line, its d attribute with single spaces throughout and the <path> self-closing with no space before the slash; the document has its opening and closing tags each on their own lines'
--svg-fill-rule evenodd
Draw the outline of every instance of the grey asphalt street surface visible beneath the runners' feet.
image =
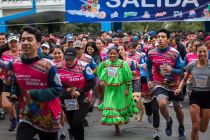
<svg viewBox="0 0 210 140">
<path fill-rule="evenodd" d="M 190 140 L 191 119 L 188 111 L 188 100 L 184 101 L 183 109 L 185 114 L 185 128 L 187 131 L 186 140 Z M 178 140 L 178 123 L 175 118 L 173 108 L 170 108 L 173 116 L 173 134 L 171 137 L 165 134 L 165 121 L 161 116 L 160 123 L 160 139 L 161 140 Z M 87 116 L 89 126 L 85 128 L 85 140 L 152 140 L 153 129 L 152 125 L 147 122 L 147 117 L 144 114 L 144 119 L 140 125 L 137 121 L 131 118 L 130 123 L 120 126 L 121 136 L 114 136 L 114 127 L 102 126 L 100 124 L 100 112 L 95 109 Z M 9 132 L 9 118 L 0 121 L 0 140 L 15 140 L 15 132 Z M 206 133 L 200 133 L 200 140 L 208 140 L 210 137 L 210 129 Z M 68 140 L 68 138 L 67 138 Z"/>
</svg>

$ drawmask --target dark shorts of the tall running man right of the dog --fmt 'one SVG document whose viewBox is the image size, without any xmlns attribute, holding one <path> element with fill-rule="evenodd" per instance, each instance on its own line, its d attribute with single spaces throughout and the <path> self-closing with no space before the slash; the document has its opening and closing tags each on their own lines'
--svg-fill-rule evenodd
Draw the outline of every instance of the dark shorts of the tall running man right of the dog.
<svg viewBox="0 0 210 140">
<path fill-rule="evenodd" d="M 175 96 L 173 91 L 167 90 L 162 87 L 157 87 L 154 91 L 154 95 L 157 97 L 158 101 L 162 98 L 167 98 L 168 101 L 173 102 L 174 106 L 181 105 L 181 102 L 184 100 L 183 93 L 180 93 L 178 96 Z"/>
</svg>

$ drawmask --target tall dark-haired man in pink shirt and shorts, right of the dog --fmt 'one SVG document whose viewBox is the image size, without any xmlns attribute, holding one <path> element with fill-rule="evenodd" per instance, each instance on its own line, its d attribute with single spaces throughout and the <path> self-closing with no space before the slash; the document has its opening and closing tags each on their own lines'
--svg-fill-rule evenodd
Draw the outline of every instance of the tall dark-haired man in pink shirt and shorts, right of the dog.
<svg viewBox="0 0 210 140">
<path fill-rule="evenodd" d="M 179 122 L 179 138 L 185 138 L 184 114 L 181 102 L 183 95 L 174 95 L 179 85 L 179 75 L 183 72 L 183 63 L 177 50 L 168 45 L 170 32 L 162 29 L 157 32 L 158 47 L 148 53 L 148 87 L 153 88 L 157 96 L 160 112 L 166 120 L 166 135 L 172 135 L 172 116 L 167 108 L 168 101 L 173 101 L 174 111 Z M 152 73 L 153 71 L 153 73 Z"/>
</svg>

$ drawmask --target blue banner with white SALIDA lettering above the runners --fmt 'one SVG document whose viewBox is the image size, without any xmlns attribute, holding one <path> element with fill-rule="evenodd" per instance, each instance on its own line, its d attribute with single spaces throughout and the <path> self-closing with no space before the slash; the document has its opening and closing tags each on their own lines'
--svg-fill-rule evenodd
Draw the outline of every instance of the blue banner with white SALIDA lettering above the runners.
<svg viewBox="0 0 210 140">
<path fill-rule="evenodd" d="M 69 22 L 210 21 L 210 0 L 66 0 Z"/>
</svg>

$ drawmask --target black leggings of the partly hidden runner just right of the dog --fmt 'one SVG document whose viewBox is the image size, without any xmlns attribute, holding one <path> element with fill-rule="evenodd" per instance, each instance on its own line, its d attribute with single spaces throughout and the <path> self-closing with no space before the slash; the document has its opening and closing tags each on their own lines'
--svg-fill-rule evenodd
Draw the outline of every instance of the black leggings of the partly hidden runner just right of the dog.
<svg viewBox="0 0 210 140">
<path fill-rule="evenodd" d="M 149 103 L 144 103 L 145 111 L 148 116 L 153 114 L 153 127 L 158 128 L 160 125 L 159 105 L 156 98 Z"/>
</svg>

